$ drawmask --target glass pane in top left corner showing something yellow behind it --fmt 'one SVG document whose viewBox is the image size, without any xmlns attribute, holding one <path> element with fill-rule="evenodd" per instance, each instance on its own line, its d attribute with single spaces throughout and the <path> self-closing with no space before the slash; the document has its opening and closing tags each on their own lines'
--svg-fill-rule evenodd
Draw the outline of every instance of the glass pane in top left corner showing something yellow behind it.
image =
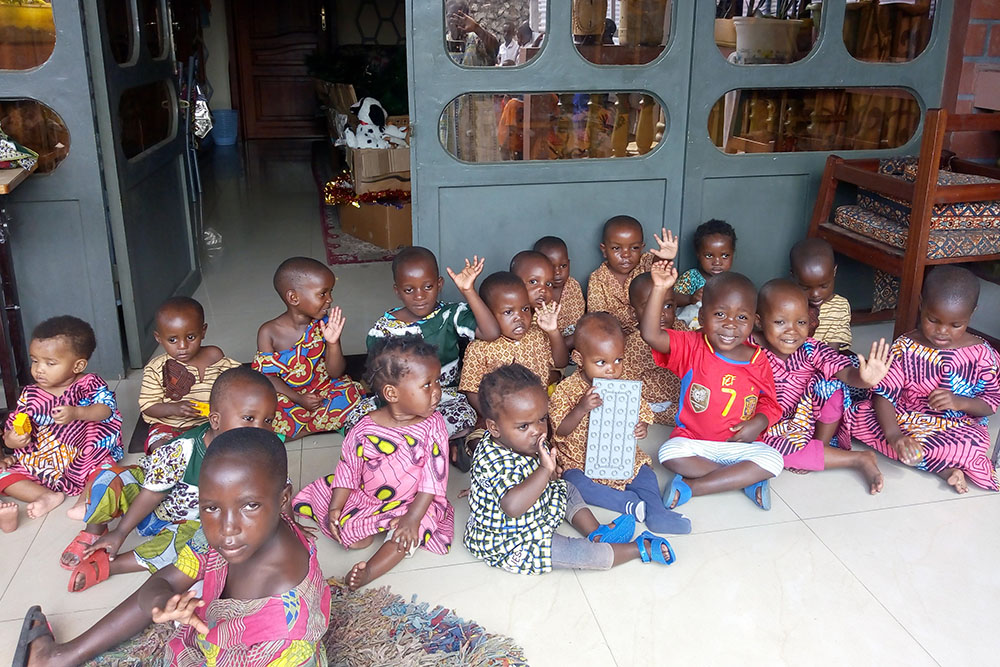
<svg viewBox="0 0 1000 667">
<path fill-rule="evenodd" d="M 51 2 L 0 0 L 0 69 L 38 67 L 55 46 Z"/>
</svg>

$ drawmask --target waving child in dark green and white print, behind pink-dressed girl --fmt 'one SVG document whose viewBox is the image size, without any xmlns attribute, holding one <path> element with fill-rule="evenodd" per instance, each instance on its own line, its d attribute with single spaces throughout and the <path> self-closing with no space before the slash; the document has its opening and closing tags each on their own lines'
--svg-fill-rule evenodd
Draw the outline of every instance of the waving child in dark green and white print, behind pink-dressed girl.
<svg viewBox="0 0 1000 667">
<path fill-rule="evenodd" d="M 444 303 L 438 294 L 444 285 L 444 278 L 438 272 L 437 259 L 427 248 L 410 246 L 404 248 L 392 260 L 393 289 L 403 302 L 379 318 L 368 332 L 368 350 L 376 341 L 386 336 L 417 335 L 437 348 L 441 361 L 441 402 L 437 411 L 444 417 L 448 427 L 448 437 L 459 439 L 476 425 L 476 411 L 469 405 L 465 395 L 458 391 L 461 371 L 459 341 L 496 340 L 500 329 L 476 293 L 476 278 L 483 272 L 483 260 L 473 257 L 465 268 L 456 274 L 450 268 L 448 275 L 455 281 L 459 292 L 467 303 Z M 376 408 L 374 397 L 366 399 L 355 415 L 356 420 Z M 464 452 L 464 447 L 453 447 L 452 455 Z M 461 467 L 468 470 L 468 461 L 459 460 Z"/>
</svg>

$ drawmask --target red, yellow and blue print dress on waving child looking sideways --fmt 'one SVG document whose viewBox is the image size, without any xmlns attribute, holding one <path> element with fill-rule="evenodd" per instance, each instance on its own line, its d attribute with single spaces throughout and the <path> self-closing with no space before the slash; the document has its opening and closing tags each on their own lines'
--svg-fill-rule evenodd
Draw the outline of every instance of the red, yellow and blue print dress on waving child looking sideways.
<svg viewBox="0 0 1000 667">
<path fill-rule="evenodd" d="M 274 432 L 288 439 L 309 433 L 336 431 L 344 425 L 347 415 L 361 400 L 360 386 L 344 375 L 331 378 L 326 371 L 326 341 L 320 323 L 327 318 L 314 320 L 302 338 L 288 350 L 257 352 L 253 358 L 254 370 L 266 375 L 277 375 L 293 391 L 315 394 L 323 403 L 315 410 L 307 410 L 278 394 L 278 411 L 274 417 Z"/>
</svg>

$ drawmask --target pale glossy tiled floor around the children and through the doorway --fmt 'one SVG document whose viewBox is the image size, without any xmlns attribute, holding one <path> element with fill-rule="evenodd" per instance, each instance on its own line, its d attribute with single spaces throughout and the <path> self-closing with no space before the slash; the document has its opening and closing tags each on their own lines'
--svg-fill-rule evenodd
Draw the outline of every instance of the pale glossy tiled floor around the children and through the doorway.
<svg viewBox="0 0 1000 667">
<path fill-rule="evenodd" d="M 219 178 L 206 214 L 224 250 L 206 261 L 196 296 L 208 312 L 208 342 L 248 360 L 257 326 L 280 311 L 274 266 L 292 254 L 322 258 L 323 248 L 308 168 L 270 160 L 248 183 L 234 155 L 214 164 Z M 335 271 L 335 302 L 348 317 L 345 347 L 361 352 L 368 324 L 393 303 L 388 265 Z M 855 348 L 887 331 L 858 329 Z M 126 437 L 138 416 L 138 380 L 133 372 L 115 387 Z M 650 429 L 643 448 L 654 452 L 665 435 Z M 331 471 L 340 442 L 323 435 L 291 443 L 293 481 Z M 518 577 L 476 562 L 459 528 L 451 554 L 419 552 L 379 583 L 513 636 L 533 665 L 996 664 L 1000 495 L 957 496 L 935 477 L 880 465 L 885 490 L 874 497 L 851 472 L 831 471 L 783 474 L 770 512 L 741 493 L 696 499 L 684 508 L 694 533 L 671 540 L 678 562 L 669 568 L 633 562 L 612 572 Z M 665 471 L 658 475 L 663 484 Z M 467 486 L 467 476 L 452 474 L 459 527 L 468 508 L 457 495 Z M 68 506 L 38 521 L 22 512 L 17 532 L 0 537 L 2 661 L 29 605 L 41 604 L 56 636 L 68 638 L 144 578 L 66 593 L 57 559 L 78 529 L 64 515 Z M 319 551 L 331 576 L 367 555 L 325 539 Z"/>
</svg>

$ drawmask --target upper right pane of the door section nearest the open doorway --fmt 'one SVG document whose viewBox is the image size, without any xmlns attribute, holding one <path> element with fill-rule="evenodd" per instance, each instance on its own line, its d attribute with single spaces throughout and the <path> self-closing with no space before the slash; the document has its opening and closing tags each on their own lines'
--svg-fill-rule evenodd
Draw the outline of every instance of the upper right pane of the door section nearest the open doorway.
<svg viewBox="0 0 1000 667">
<path fill-rule="evenodd" d="M 598 65 L 643 65 L 670 38 L 670 0 L 572 0 L 573 42 Z"/>
</svg>

